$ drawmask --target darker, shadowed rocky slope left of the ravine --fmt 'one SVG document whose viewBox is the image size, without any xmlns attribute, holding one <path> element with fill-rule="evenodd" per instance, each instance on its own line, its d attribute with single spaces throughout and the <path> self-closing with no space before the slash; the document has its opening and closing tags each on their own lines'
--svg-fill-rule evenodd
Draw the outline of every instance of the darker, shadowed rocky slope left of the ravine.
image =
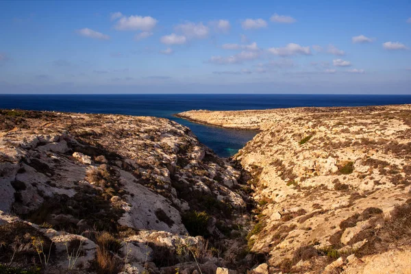
<svg viewBox="0 0 411 274">
<path fill-rule="evenodd" d="M 0 272 L 245 271 L 234 164 L 167 119 L 0 110 Z"/>
</svg>

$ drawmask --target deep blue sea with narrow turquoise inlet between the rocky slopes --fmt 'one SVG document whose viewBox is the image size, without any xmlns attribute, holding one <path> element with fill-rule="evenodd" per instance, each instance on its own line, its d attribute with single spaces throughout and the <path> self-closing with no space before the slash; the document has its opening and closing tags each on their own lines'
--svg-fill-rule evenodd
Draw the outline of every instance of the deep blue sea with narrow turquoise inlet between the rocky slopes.
<svg viewBox="0 0 411 274">
<path fill-rule="evenodd" d="M 264 110 L 304 106 L 411 103 L 411 95 L 0 95 L 0 108 L 111 113 L 168 118 L 190 127 L 222 157 L 234 155 L 257 132 L 222 129 L 173 116 L 186 110 Z"/>
</svg>

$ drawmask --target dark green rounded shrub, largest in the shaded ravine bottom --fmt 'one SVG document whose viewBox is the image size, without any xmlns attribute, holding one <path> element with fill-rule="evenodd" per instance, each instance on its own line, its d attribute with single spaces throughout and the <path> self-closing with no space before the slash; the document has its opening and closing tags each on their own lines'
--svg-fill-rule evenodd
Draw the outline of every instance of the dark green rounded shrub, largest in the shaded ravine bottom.
<svg viewBox="0 0 411 274">
<path fill-rule="evenodd" d="M 206 212 L 197 212 L 195 210 L 187 212 L 182 217 L 183 224 L 191 236 L 203 236 L 205 238 L 210 236 L 207 229 L 209 220 L 210 215 Z"/>
</svg>

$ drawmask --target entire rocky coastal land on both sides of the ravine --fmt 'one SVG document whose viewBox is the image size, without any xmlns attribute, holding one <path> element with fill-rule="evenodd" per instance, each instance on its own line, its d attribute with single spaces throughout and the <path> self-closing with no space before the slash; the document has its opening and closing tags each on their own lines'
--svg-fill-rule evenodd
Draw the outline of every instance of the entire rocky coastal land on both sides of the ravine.
<svg viewBox="0 0 411 274">
<path fill-rule="evenodd" d="M 0 271 L 408 273 L 411 105 L 177 116 L 0 110 Z"/>
</svg>

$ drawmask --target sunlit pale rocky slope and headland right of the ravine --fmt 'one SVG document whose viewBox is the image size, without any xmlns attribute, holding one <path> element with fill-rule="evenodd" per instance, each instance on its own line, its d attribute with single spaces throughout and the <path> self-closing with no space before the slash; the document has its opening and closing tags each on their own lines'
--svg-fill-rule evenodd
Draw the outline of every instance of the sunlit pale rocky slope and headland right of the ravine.
<svg viewBox="0 0 411 274">
<path fill-rule="evenodd" d="M 234 159 L 253 175 L 264 271 L 410 273 L 411 105 L 178 116 L 260 129 Z"/>
</svg>

